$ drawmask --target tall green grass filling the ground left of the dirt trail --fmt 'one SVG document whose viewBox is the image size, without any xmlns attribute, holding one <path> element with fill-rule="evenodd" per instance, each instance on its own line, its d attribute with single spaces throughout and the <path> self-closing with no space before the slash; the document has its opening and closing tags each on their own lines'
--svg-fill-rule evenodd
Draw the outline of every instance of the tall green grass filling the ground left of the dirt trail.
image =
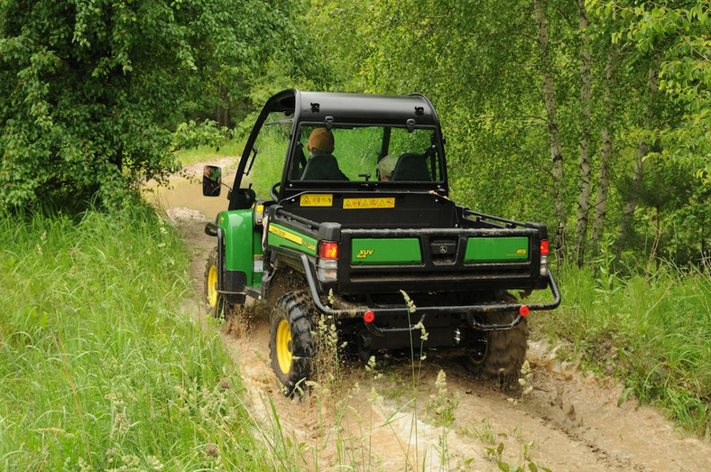
<svg viewBox="0 0 711 472">
<path fill-rule="evenodd" d="M 150 208 L 0 217 L 0 469 L 274 467 L 188 268 Z"/>
</svg>

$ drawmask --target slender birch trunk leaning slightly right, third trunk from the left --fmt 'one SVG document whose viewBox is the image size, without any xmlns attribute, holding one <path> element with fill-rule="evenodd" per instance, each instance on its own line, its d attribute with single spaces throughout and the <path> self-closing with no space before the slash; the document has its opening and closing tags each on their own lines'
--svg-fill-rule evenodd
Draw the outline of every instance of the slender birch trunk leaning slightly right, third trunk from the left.
<svg viewBox="0 0 711 472">
<path fill-rule="evenodd" d="M 600 147 L 600 172 L 597 180 L 597 197 L 595 202 L 595 219 L 593 219 L 593 230 L 590 235 L 590 245 L 595 254 L 599 253 L 600 239 L 605 230 L 605 217 L 607 216 L 607 194 L 610 190 L 610 159 L 613 154 L 612 134 L 614 132 L 613 123 L 613 88 L 614 69 L 617 66 L 617 51 L 612 45 L 607 52 L 607 63 L 605 65 L 605 95 L 603 97 L 603 108 L 605 113 L 605 125 L 603 127 Z"/>
</svg>

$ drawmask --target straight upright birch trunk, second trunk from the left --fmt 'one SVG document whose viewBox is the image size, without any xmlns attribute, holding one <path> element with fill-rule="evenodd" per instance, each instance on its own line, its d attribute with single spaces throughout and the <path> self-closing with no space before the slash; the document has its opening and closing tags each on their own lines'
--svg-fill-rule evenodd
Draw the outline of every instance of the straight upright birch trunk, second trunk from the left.
<svg viewBox="0 0 711 472">
<path fill-rule="evenodd" d="M 589 24 L 585 0 L 577 0 L 580 12 L 578 25 L 581 33 L 580 44 L 580 160 L 578 171 L 580 175 L 580 185 L 577 194 L 577 223 L 575 235 L 575 259 L 578 267 L 582 267 L 585 262 L 585 245 L 587 235 L 587 220 L 590 213 L 590 116 L 592 85 L 590 78 L 591 53 L 590 36 L 587 33 Z"/>
</svg>

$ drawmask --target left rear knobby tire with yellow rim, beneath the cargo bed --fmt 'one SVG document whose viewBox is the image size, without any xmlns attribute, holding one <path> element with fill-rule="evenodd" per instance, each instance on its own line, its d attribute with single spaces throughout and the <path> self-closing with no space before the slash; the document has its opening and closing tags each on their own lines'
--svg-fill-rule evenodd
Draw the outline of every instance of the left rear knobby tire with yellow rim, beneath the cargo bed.
<svg viewBox="0 0 711 472">
<path fill-rule="evenodd" d="M 272 370 L 284 393 L 305 389 L 318 348 L 314 336 L 313 305 L 303 292 L 283 295 L 274 306 L 269 329 Z"/>
</svg>

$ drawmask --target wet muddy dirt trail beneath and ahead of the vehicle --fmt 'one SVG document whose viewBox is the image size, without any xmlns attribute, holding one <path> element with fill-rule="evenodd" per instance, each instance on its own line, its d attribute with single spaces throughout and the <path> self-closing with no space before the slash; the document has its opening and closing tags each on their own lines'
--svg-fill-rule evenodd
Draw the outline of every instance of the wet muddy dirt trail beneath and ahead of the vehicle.
<svg viewBox="0 0 711 472">
<path fill-rule="evenodd" d="M 205 200 L 173 199 L 170 190 L 161 196 L 192 253 L 198 293 L 215 244 L 203 228 L 226 207 L 225 199 Z M 542 342 L 529 342 L 532 379 L 526 386 L 532 391 L 522 402 L 521 392 L 503 393 L 457 362 L 433 355 L 415 375 L 404 359 L 386 359 L 387 366 L 374 372 L 346 363 L 340 366 L 339 389 L 317 386 L 305 399 L 292 401 L 269 366 L 268 330 L 264 315 L 235 317 L 223 328 L 223 340 L 240 367 L 254 416 L 265 429 L 276 430 L 273 404 L 284 439 L 304 451 L 305 469 L 345 464 L 357 470 L 498 470 L 499 460 L 511 466 L 532 460 L 554 471 L 711 470 L 711 443 L 674 430 L 635 400 L 618 406 L 619 385 L 560 364 L 555 349 Z M 446 385 L 438 388 L 440 371 Z M 512 394 L 518 403 L 512 403 Z M 453 422 L 445 428 L 441 420 L 448 413 Z"/>
</svg>

